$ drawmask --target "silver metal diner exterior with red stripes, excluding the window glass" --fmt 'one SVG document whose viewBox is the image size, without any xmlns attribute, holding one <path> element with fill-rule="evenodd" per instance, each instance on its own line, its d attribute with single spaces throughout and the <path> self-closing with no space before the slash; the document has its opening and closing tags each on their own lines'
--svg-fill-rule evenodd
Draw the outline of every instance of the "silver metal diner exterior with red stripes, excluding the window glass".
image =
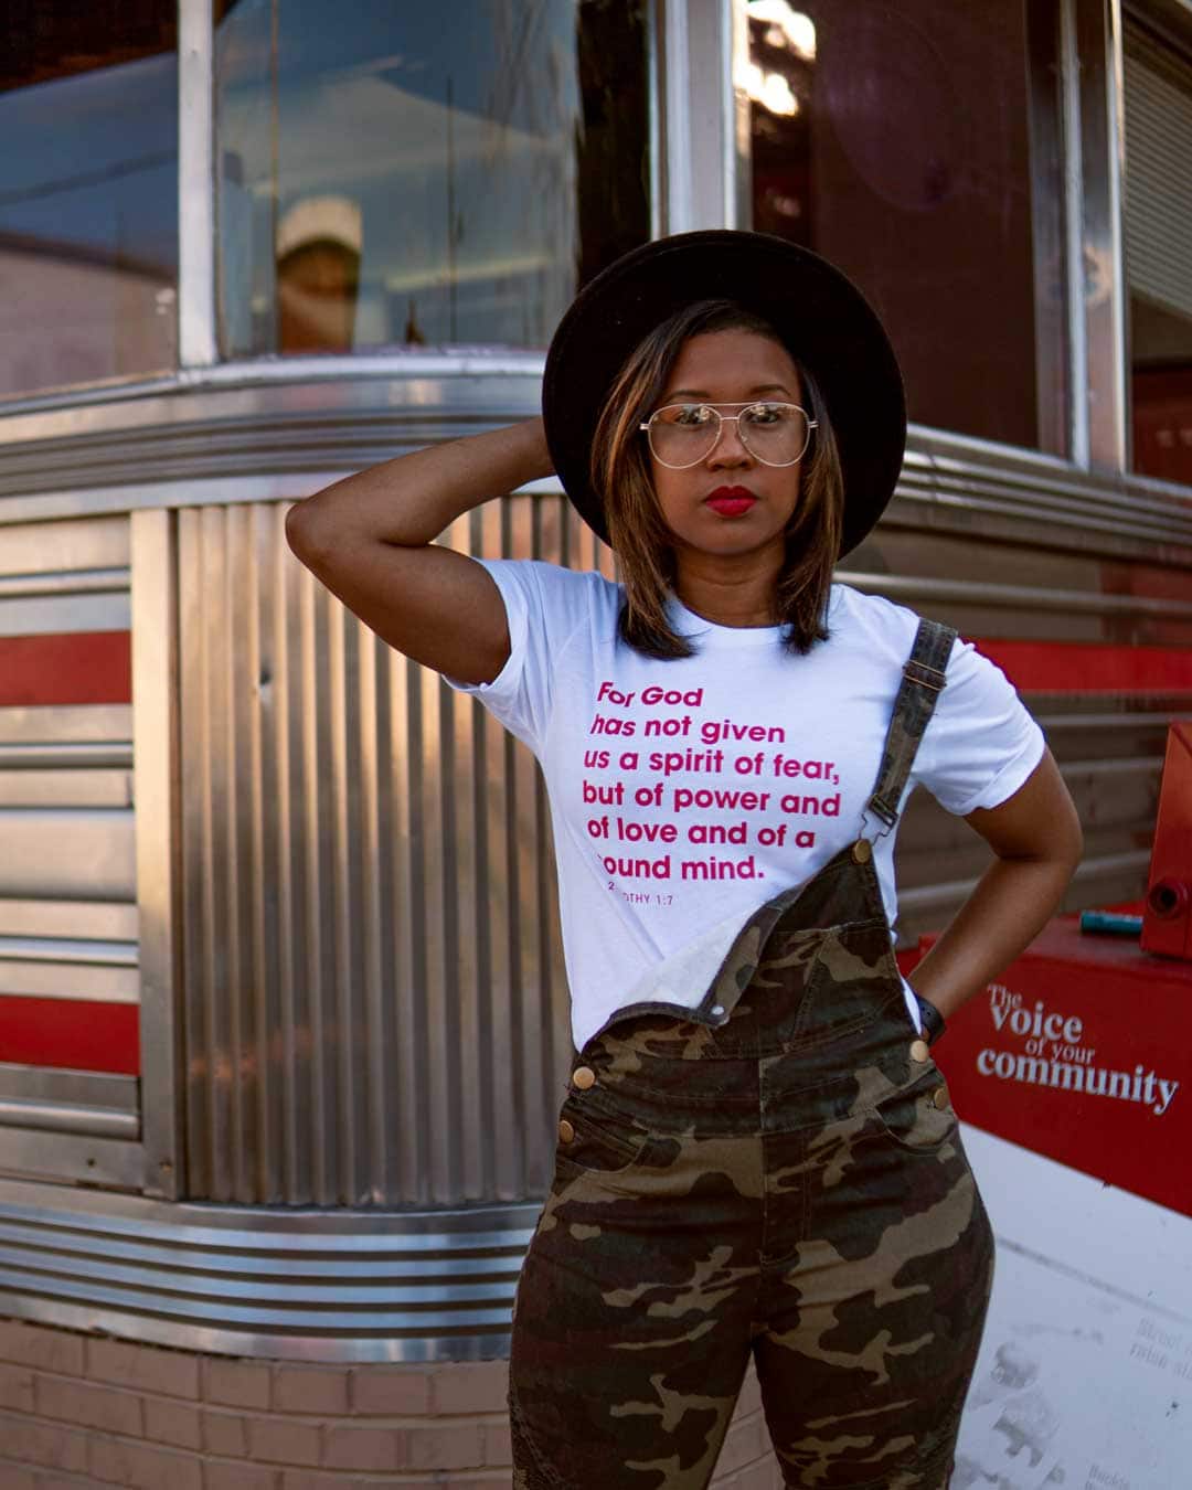
<svg viewBox="0 0 1192 1490">
<path fill-rule="evenodd" d="M 460 52 L 474 9 L 440 7 Z M 495 9 L 514 33 L 536 13 Z M 758 94 L 781 101 L 767 79 L 782 7 L 621 9 L 642 37 L 644 235 L 748 225 Z M 1173 213 L 1192 195 L 1159 161 L 1167 185 L 1140 186 L 1125 218 L 1122 200 L 1153 118 L 1192 118 L 1192 43 L 1177 0 L 1125 16 L 1116 0 L 1001 7 L 1019 9 L 1030 170 L 995 186 L 1037 204 L 1033 273 L 1050 286 L 1033 299 L 1037 438 L 915 423 L 890 514 L 842 578 L 1004 660 L 1085 821 L 1070 903 L 1109 904 L 1144 884 L 1167 723 L 1192 706 L 1192 501 L 1137 469 L 1128 341 L 1146 244 L 1164 231 L 1155 192 Z M 873 57 L 867 9 L 834 10 L 837 24 L 852 12 L 858 55 Z M 940 7 L 904 10 L 922 55 L 952 66 Z M 267 97 L 285 0 L 258 12 L 264 36 L 274 27 Z M 802 18 L 805 70 L 827 58 L 822 12 L 782 12 Z M 285 212 L 265 188 L 246 207 L 221 153 L 234 122 L 221 46 L 244 13 L 177 9 L 176 280 L 122 285 L 174 317 L 176 364 L 15 387 L 0 405 L 0 675 L 24 679 L 0 676 L 0 1308 L 210 1353 L 499 1356 L 569 1055 L 542 785 L 474 703 L 346 615 L 282 529 L 289 502 L 341 474 L 533 413 L 545 338 L 462 344 L 465 328 L 438 349 L 411 334 L 286 356 L 270 323 L 273 343 L 253 343 L 256 289 L 228 298 L 235 213 L 273 213 L 277 243 Z M 811 57 L 806 24 L 822 33 Z M 480 189 L 463 156 L 483 140 L 468 136 L 478 115 L 447 100 L 428 130 L 450 122 L 460 213 Z M 824 139 L 848 143 L 836 128 Z M 535 162 L 517 170 L 536 180 Z M 414 212 L 407 186 L 395 212 Z M 444 252 L 462 255 L 472 240 L 448 218 Z M 1123 222 L 1140 244 L 1129 267 Z M 365 213 L 365 244 L 368 231 Z M 414 280 L 390 277 L 395 323 L 417 331 Z M 432 311 L 463 316 L 462 270 L 448 280 Z M 952 314 L 949 283 L 933 320 Z M 1192 441 L 1192 402 L 1179 408 L 1174 456 Z M 444 541 L 612 572 L 550 483 Z M 982 855 L 964 824 L 915 803 L 903 936 L 942 924 Z"/>
</svg>

